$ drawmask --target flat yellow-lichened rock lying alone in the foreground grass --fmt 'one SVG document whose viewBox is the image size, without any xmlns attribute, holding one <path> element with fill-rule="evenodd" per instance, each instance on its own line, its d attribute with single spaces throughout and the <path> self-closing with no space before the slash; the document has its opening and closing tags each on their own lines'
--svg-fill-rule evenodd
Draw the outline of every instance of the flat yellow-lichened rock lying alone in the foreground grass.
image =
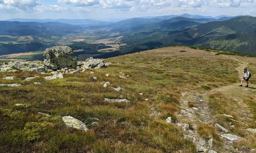
<svg viewBox="0 0 256 153">
<path fill-rule="evenodd" d="M 85 132 L 88 131 L 86 125 L 82 121 L 73 118 L 72 116 L 63 116 L 62 120 L 67 127 L 84 130 Z"/>
</svg>

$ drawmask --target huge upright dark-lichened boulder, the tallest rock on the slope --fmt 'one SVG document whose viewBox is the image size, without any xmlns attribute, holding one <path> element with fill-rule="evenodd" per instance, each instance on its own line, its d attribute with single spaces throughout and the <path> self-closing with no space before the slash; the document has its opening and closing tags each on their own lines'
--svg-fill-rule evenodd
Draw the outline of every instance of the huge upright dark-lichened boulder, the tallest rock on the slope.
<svg viewBox="0 0 256 153">
<path fill-rule="evenodd" d="M 76 69 L 77 57 L 68 46 L 54 46 L 47 48 L 44 53 L 44 65 L 47 69 L 60 70 L 62 68 Z"/>
</svg>

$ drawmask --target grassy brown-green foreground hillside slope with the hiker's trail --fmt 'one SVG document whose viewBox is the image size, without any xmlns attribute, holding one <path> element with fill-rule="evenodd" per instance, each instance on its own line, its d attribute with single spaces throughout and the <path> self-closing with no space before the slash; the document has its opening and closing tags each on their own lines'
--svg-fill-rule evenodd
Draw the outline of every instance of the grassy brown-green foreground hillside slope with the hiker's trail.
<svg viewBox="0 0 256 153">
<path fill-rule="evenodd" d="M 255 75 L 250 88 L 238 87 L 245 66 L 256 74 L 256 58 L 175 46 L 105 62 L 113 65 L 51 81 L 44 79 L 51 74 L 0 72 L 0 84 L 21 84 L 0 87 L 0 152 L 253 153 L 256 148 L 255 133 L 246 130 L 256 128 Z M 2 79 L 7 76 L 15 79 Z M 112 89 L 118 86 L 123 91 Z M 81 120 L 89 130 L 66 127 L 63 116 Z"/>
</svg>

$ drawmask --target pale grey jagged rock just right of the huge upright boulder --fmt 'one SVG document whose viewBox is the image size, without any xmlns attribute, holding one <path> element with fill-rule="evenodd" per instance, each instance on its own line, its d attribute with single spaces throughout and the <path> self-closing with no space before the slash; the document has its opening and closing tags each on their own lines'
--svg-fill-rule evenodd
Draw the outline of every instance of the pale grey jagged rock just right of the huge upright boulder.
<svg viewBox="0 0 256 153">
<path fill-rule="evenodd" d="M 94 59 L 93 57 L 87 58 L 84 62 L 82 67 L 86 69 L 99 69 L 105 67 L 104 60 L 101 59 Z"/>
</svg>

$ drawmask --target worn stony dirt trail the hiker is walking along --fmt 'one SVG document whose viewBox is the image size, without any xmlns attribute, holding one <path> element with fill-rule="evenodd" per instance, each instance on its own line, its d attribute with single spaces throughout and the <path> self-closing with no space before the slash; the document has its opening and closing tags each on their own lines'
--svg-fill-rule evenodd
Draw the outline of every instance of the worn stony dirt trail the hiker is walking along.
<svg viewBox="0 0 256 153">
<path fill-rule="evenodd" d="M 241 78 L 242 71 L 248 65 L 248 62 L 244 62 L 226 55 L 222 55 L 222 56 L 239 62 L 239 66 L 236 68 L 236 70 L 238 71 L 238 75 L 239 75 L 238 77 Z M 226 97 L 234 98 L 234 100 L 237 101 L 238 107 L 240 108 L 240 110 L 245 112 L 247 115 L 250 115 L 250 110 L 248 106 L 244 102 L 242 102 L 242 99 L 245 94 L 256 93 L 256 90 L 255 90 L 256 87 L 254 84 L 249 84 L 249 88 L 238 87 L 238 85 L 239 83 L 233 83 L 227 86 L 222 86 L 219 88 L 209 90 L 204 93 L 183 93 L 182 94 L 182 97 L 180 98 L 181 99 L 180 108 L 182 110 L 181 110 L 181 113 L 176 114 L 177 120 L 183 123 L 189 121 L 193 126 L 192 127 L 193 130 L 188 130 L 188 132 L 185 132 L 184 137 L 192 138 L 193 142 L 197 146 L 198 152 L 207 151 L 209 147 L 208 147 L 208 142 L 205 141 L 204 138 L 200 137 L 199 134 L 197 133 L 196 131 L 197 124 L 208 123 L 208 124 L 214 125 L 214 116 L 211 115 L 211 110 L 209 109 L 209 106 L 208 106 L 209 94 L 222 93 Z M 196 104 L 198 110 L 196 108 L 189 107 L 188 101 L 191 101 L 194 104 Z M 246 116 L 244 116 L 243 118 L 246 119 Z M 232 146 L 233 144 L 227 142 L 224 138 L 223 138 L 223 144 L 225 147 L 233 151 L 235 150 L 235 148 L 233 148 Z"/>
</svg>

